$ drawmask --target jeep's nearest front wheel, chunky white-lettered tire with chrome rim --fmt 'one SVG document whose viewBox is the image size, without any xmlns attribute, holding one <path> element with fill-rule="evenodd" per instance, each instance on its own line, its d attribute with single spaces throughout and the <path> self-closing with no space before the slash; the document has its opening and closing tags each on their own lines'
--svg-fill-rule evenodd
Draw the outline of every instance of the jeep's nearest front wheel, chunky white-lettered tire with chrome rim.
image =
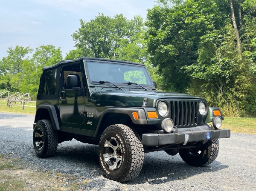
<svg viewBox="0 0 256 191">
<path fill-rule="evenodd" d="M 140 174 L 143 161 L 143 145 L 135 131 L 122 124 L 105 129 L 99 141 L 99 163 L 105 177 L 117 182 L 132 180 Z"/>
</svg>

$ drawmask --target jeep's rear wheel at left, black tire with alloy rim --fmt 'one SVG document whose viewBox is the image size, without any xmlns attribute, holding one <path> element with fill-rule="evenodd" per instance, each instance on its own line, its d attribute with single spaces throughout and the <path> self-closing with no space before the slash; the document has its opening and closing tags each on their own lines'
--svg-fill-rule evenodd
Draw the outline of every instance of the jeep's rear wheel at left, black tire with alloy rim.
<svg viewBox="0 0 256 191">
<path fill-rule="evenodd" d="M 50 120 L 39 120 L 33 131 L 33 145 L 38 157 L 52 157 L 58 147 L 58 133 Z"/>
</svg>

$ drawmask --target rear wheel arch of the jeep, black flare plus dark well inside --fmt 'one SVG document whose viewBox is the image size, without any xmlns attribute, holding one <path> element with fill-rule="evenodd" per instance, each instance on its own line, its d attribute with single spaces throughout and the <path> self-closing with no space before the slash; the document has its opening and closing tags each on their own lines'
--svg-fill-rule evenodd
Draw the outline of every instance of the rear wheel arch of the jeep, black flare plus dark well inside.
<svg viewBox="0 0 256 191">
<path fill-rule="evenodd" d="M 60 130 L 58 115 L 54 105 L 39 105 L 36 110 L 34 124 L 38 120 L 51 120 L 53 129 Z M 34 127 L 35 125 L 33 125 Z"/>
</svg>

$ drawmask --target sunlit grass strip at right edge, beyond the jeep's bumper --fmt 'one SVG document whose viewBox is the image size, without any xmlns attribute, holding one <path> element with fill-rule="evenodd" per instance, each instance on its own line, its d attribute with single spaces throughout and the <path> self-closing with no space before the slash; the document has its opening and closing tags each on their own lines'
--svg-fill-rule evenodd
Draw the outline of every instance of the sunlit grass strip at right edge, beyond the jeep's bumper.
<svg viewBox="0 0 256 191">
<path fill-rule="evenodd" d="M 256 118 L 224 117 L 221 128 L 229 128 L 232 133 L 256 134 Z"/>
</svg>

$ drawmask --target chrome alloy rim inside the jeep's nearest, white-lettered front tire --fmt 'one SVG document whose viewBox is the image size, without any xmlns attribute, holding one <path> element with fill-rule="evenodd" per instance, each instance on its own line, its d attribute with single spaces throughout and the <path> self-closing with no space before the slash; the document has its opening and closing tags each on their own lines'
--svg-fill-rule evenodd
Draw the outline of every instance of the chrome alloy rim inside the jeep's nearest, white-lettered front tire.
<svg viewBox="0 0 256 191">
<path fill-rule="evenodd" d="M 104 143 L 103 158 L 112 171 L 118 169 L 123 162 L 122 145 L 116 137 L 109 137 Z"/>
</svg>

